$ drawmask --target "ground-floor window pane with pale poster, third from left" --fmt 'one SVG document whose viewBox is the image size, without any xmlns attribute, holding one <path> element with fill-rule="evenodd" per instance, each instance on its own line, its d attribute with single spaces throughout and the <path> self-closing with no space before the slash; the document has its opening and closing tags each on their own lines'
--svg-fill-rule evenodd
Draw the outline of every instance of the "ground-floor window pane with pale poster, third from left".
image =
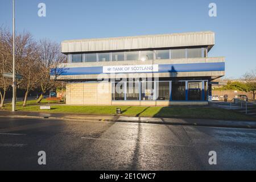
<svg viewBox="0 0 256 182">
<path fill-rule="evenodd" d="M 141 100 L 154 100 L 154 82 L 141 82 Z"/>
</svg>

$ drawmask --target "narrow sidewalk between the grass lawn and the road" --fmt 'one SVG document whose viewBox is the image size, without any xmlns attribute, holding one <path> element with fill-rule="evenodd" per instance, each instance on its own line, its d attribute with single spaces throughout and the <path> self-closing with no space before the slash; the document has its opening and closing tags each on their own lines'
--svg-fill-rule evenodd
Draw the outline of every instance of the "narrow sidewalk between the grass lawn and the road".
<svg viewBox="0 0 256 182">
<path fill-rule="evenodd" d="M 0 117 L 14 118 L 48 118 L 48 119 L 73 119 L 79 121 L 112 121 L 112 122 L 135 122 L 156 123 L 164 125 L 187 125 L 187 126 L 212 126 L 212 127 L 234 127 L 244 129 L 256 129 L 254 121 L 229 121 L 218 119 L 190 119 L 190 118 L 144 118 L 126 117 L 121 115 L 87 115 L 87 114 L 63 114 L 63 113 L 37 113 L 16 111 L 0 111 Z"/>
</svg>

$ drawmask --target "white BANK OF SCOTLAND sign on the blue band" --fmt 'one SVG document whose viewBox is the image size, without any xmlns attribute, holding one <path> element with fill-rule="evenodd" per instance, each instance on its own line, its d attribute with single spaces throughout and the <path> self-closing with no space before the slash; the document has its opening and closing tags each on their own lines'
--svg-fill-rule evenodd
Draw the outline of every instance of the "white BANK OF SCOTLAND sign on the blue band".
<svg viewBox="0 0 256 182">
<path fill-rule="evenodd" d="M 103 67 L 103 73 L 142 73 L 158 72 L 158 64 L 118 65 Z"/>
</svg>

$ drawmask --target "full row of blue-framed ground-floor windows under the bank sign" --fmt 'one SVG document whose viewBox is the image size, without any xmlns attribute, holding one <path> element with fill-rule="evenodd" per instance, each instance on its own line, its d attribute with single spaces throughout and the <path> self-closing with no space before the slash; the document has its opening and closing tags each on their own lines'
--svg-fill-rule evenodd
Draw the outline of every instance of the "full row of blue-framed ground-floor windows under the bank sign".
<svg viewBox="0 0 256 182">
<path fill-rule="evenodd" d="M 207 101 L 208 81 L 113 82 L 112 100 Z"/>
</svg>

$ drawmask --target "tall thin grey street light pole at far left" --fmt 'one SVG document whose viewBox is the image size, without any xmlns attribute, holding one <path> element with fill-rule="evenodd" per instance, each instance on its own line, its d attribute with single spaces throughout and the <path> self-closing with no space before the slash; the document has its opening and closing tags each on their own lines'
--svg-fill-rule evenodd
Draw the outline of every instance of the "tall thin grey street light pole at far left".
<svg viewBox="0 0 256 182">
<path fill-rule="evenodd" d="M 16 102 L 16 82 L 15 82 L 15 9 L 13 0 L 13 102 L 12 111 L 15 111 Z"/>
</svg>

